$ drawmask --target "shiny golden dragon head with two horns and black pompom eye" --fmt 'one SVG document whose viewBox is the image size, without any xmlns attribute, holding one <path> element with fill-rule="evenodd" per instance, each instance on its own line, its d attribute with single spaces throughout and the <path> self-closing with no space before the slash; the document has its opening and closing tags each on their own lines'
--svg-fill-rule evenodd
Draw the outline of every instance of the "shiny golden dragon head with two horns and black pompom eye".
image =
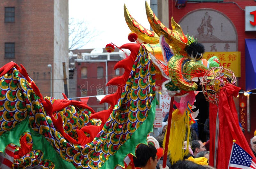
<svg viewBox="0 0 256 169">
<path fill-rule="evenodd" d="M 149 54 L 152 54 L 151 60 L 169 80 L 164 84 L 165 88 L 174 95 L 183 95 L 196 90 L 197 84 L 191 80 L 203 76 L 207 70 L 207 67 L 199 61 L 203 57 L 204 46 L 193 36 L 184 35 L 173 17 L 172 30 L 165 27 L 150 9 L 147 1 L 146 14 L 154 31 L 146 29 L 133 19 L 124 4 L 124 17 L 128 27 L 138 35 Z"/>
</svg>

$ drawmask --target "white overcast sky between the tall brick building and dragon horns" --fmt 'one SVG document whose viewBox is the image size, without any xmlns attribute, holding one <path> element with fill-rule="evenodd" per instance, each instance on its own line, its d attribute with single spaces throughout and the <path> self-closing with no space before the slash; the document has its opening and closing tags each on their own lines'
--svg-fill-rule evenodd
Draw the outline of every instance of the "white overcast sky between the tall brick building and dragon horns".
<svg viewBox="0 0 256 169">
<path fill-rule="evenodd" d="M 150 0 L 147 2 L 150 4 Z M 132 17 L 149 29 L 145 0 L 69 0 L 69 18 L 84 21 L 99 34 L 81 49 L 105 48 L 110 42 L 117 46 L 129 43 L 127 36 L 131 30 L 124 19 L 124 4 Z"/>
</svg>

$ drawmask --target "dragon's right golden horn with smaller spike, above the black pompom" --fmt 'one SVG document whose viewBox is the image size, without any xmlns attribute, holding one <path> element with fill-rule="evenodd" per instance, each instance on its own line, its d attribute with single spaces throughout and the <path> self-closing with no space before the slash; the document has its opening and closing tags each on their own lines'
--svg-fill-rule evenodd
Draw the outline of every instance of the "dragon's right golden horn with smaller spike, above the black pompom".
<svg viewBox="0 0 256 169">
<path fill-rule="evenodd" d="M 165 27 L 162 22 L 157 19 L 155 13 L 149 7 L 146 1 L 146 14 L 148 17 L 148 22 L 152 29 L 156 32 L 158 36 L 164 35 L 166 42 L 172 46 L 172 49 L 175 53 L 180 53 L 184 56 L 187 56 L 187 52 L 184 51 L 185 47 L 188 46 L 187 37 L 183 34 L 183 31 L 173 18 L 171 19 L 172 30 Z"/>
</svg>

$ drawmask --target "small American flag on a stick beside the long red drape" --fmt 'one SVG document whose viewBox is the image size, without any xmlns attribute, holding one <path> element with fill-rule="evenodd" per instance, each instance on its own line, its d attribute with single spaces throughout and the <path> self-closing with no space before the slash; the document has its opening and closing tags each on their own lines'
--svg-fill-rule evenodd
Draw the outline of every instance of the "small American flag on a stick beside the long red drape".
<svg viewBox="0 0 256 169">
<path fill-rule="evenodd" d="M 230 155 L 228 169 L 256 169 L 256 160 L 244 149 L 234 143 Z"/>
</svg>

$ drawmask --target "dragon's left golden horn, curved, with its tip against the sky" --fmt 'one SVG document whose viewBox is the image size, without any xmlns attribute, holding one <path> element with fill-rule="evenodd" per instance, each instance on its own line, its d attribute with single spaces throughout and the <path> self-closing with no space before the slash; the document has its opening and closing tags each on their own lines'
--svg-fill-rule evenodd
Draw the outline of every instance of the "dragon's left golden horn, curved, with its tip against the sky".
<svg viewBox="0 0 256 169">
<path fill-rule="evenodd" d="M 133 19 L 132 15 L 127 10 L 125 4 L 124 4 L 124 18 L 130 30 L 136 33 L 143 42 L 146 42 L 149 44 L 159 43 L 159 36 L 156 35 L 155 32 L 150 31 L 145 27 L 142 27 L 135 19 Z"/>
</svg>

